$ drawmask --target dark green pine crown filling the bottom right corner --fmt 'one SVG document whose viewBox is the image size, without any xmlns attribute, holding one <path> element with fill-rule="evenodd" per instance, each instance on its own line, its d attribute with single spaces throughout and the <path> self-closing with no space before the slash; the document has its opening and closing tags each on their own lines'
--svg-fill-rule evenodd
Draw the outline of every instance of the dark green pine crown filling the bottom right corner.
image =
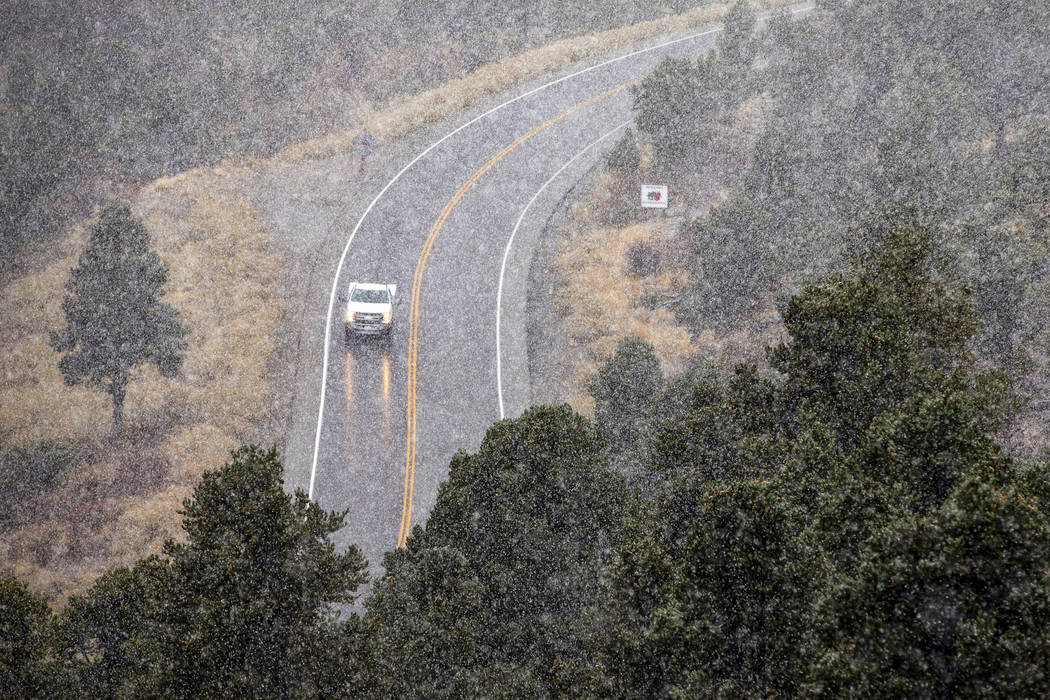
<svg viewBox="0 0 1050 700">
<path fill-rule="evenodd" d="M 1050 529 L 1014 487 L 967 481 L 875 536 L 821 611 L 819 697 L 1042 697 Z"/>
</svg>

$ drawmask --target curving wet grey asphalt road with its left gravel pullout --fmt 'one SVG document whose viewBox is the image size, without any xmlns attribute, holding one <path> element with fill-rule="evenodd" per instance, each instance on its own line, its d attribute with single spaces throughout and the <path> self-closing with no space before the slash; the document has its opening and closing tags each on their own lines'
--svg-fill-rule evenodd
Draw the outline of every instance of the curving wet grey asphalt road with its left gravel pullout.
<svg viewBox="0 0 1050 700">
<path fill-rule="evenodd" d="M 287 479 L 349 509 L 337 545 L 357 544 L 372 575 L 425 523 L 454 453 L 530 405 L 529 262 L 564 193 L 632 119 L 628 86 L 716 39 L 697 29 L 538 79 L 378 144 L 363 179 L 351 153 L 259 176 L 256 204 L 294 258 Z M 351 281 L 398 285 L 388 343 L 344 342 L 332 294 Z"/>
</svg>

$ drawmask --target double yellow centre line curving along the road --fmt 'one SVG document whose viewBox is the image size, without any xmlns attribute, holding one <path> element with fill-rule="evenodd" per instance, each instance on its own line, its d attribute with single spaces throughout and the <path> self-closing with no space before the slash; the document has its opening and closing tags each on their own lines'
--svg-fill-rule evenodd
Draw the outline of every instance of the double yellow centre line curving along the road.
<svg viewBox="0 0 1050 700">
<path fill-rule="evenodd" d="M 508 153 L 521 146 L 523 143 L 540 133 L 547 127 L 551 126 L 565 119 L 569 114 L 583 109 L 589 105 L 594 104 L 601 100 L 605 100 L 621 90 L 630 87 L 638 81 L 631 81 L 630 83 L 624 83 L 618 85 L 607 92 L 603 92 L 596 97 L 591 98 L 581 102 L 569 109 L 566 109 L 561 114 L 553 116 L 540 126 L 536 127 L 528 133 L 519 136 L 512 144 L 504 148 L 502 151 L 489 158 L 488 163 L 483 165 L 478 169 L 470 177 L 460 186 L 456 194 L 453 195 L 452 199 L 445 204 L 444 209 L 441 210 L 441 214 L 438 216 L 437 220 L 434 221 L 434 226 L 430 227 L 430 231 L 426 236 L 426 240 L 423 243 L 423 250 L 419 254 L 419 260 L 416 262 L 416 274 L 412 280 L 412 304 L 408 311 L 408 390 L 406 393 L 406 438 L 405 438 L 405 450 L 404 450 L 404 489 L 401 495 L 401 527 L 398 531 L 397 546 L 404 547 L 408 539 L 408 533 L 412 530 L 412 501 L 413 494 L 416 486 L 416 368 L 419 362 L 419 298 L 422 293 L 423 287 L 423 270 L 426 268 L 426 259 L 430 255 L 430 249 L 434 248 L 434 241 L 438 238 L 438 233 L 441 232 L 441 227 L 444 226 L 445 219 L 452 213 L 459 200 L 474 187 L 475 183 L 481 178 L 489 168 L 502 161 Z"/>
</svg>

